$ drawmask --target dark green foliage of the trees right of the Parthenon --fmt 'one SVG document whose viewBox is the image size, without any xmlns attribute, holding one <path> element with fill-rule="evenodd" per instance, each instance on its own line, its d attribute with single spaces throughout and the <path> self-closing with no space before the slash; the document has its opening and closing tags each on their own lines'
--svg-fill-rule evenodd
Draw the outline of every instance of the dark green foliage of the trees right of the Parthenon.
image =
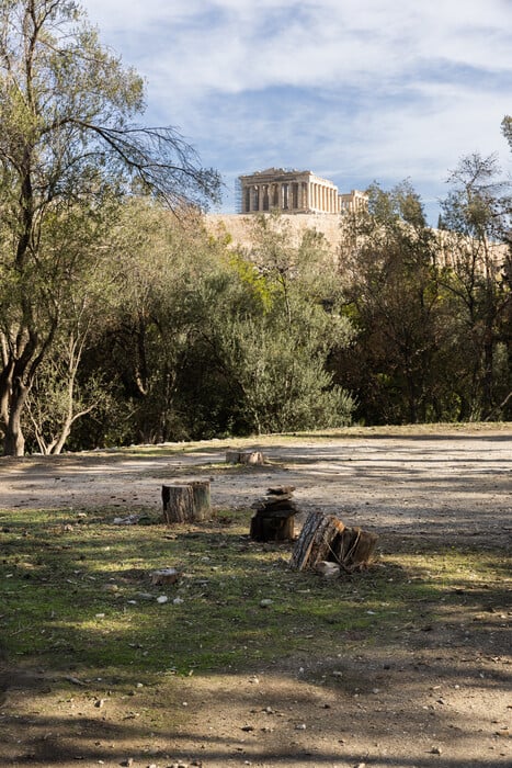
<svg viewBox="0 0 512 768">
<path fill-rule="evenodd" d="M 345 217 L 344 312 L 359 336 L 332 364 L 366 423 L 507 413 L 510 357 L 505 363 L 500 352 L 494 364 L 511 305 L 500 274 L 497 238 L 507 219 L 496 171 L 492 158 L 462 161 L 440 233 L 426 227 L 409 182 L 389 192 L 374 184 L 367 212 Z"/>
</svg>

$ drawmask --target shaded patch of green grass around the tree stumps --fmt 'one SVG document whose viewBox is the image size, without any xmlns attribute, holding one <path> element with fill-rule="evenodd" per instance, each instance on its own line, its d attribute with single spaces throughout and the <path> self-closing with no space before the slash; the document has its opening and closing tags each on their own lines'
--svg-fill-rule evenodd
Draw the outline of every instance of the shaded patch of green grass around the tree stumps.
<svg viewBox="0 0 512 768">
<path fill-rule="evenodd" d="M 0 511 L 1 642 L 11 662 L 120 678 L 135 668 L 147 679 L 253 670 L 305 652 L 320 659 L 392 646 L 405 628 L 505 605 L 502 554 L 395 552 L 323 580 L 288 568 L 291 546 L 250 541 L 249 511 L 172 529 L 116 526 L 116 513 Z M 180 583 L 151 586 L 150 572 L 171 566 L 183 571 Z"/>
</svg>

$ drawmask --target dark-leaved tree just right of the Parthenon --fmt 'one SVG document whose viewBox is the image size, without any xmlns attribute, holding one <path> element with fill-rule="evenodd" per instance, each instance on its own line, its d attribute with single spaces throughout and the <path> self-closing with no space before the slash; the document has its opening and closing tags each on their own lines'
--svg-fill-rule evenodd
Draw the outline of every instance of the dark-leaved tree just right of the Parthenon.
<svg viewBox="0 0 512 768">
<path fill-rule="evenodd" d="M 408 181 L 374 184 L 365 212 L 342 222 L 340 272 L 345 314 L 357 336 L 335 361 L 360 416 L 417 422 L 439 410 L 439 350 L 445 332 L 433 270 L 434 237 Z"/>
</svg>

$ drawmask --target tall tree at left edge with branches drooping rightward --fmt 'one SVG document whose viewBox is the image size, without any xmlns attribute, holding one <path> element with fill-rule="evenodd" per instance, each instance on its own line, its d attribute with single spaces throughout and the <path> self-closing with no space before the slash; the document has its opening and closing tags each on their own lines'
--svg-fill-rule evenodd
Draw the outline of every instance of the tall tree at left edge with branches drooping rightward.
<svg viewBox="0 0 512 768">
<path fill-rule="evenodd" d="M 62 292 L 81 269 L 78 255 L 65 248 L 76 210 L 94 221 L 105 201 L 134 189 L 179 210 L 218 189 L 217 174 L 198 167 L 173 128 L 133 122 L 143 111 L 141 79 L 101 45 L 75 2 L 0 3 L 0 423 L 7 454 L 24 452 L 26 398 L 59 328 Z"/>
</svg>

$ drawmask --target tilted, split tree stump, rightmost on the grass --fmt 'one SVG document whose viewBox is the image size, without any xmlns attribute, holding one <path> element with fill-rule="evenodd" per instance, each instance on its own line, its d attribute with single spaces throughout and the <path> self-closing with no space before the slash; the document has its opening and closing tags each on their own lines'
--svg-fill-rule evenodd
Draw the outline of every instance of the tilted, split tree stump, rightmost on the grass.
<svg viewBox="0 0 512 768">
<path fill-rule="evenodd" d="M 361 528 L 346 528 L 334 515 L 310 512 L 297 539 L 289 565 L 297 571 L 317 563 L 339 563 L 348 572 L 367 566 L 374 556 L 377 537 Z"/>
</svg>

